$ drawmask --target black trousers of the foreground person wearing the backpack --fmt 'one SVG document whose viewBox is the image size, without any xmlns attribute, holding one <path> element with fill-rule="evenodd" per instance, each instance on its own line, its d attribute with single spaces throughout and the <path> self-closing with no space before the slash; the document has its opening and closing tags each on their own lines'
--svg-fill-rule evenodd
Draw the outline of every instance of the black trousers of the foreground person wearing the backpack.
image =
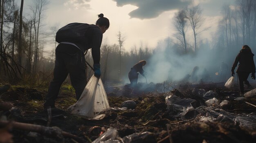
<svg viewBox="0 0 256 143">
<path fill-rule="evenodd" d="M 62 45 L 59 44 L 58 46 Z M 64 48 L 65 47 L 67 47 L 67 44 L 64 45 Z M 60 52 L 57 51 L 57 48 L 54 77 L 49 85 L 48 94 L 46 95 L 46 101 L 44 105 L 45 107 L 55 105 L 55 100 L 58 97 L 61 84 L 63 81 L 65 81 L 68 74 L 70 74 L 71 84 L 75 89 L 77 100 L 80 98 L 85 85 L 87 84 L 87 66 L 85 64 L 85 57 L 83 53 L 77 49 L 73 50 L 72 52 L 62 52 L 61 50 Z"/>
</svg>

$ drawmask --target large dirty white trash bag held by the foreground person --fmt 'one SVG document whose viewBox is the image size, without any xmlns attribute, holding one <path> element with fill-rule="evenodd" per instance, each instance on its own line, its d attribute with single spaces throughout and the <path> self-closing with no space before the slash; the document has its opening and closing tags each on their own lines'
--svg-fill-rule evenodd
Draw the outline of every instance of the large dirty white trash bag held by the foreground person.
<svg viewBox="0 0 256 143">
<path fill-rule="evenodd" d="M 93 75 L 79 100 L 68 110 L 78 117 L 94 120 L 101 120 L 110 114 L 107 94 L 101 79 Z"/>
</svg>

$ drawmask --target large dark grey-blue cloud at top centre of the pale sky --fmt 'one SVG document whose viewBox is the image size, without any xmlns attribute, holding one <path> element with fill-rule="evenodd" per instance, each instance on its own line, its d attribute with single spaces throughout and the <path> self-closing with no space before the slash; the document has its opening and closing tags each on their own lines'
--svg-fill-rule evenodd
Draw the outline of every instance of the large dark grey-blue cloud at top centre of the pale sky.
<svg viewBox="0 0 256 143">
<path fill-rule="evenodd" d="M 117 2 L 117 7 L 126 4 L 137 6 L 138 9 L 129 13 L 131 18 L 156 18 L 164 11 L 186 7 L 192 0 L 113 0 Z"/>
</svg>

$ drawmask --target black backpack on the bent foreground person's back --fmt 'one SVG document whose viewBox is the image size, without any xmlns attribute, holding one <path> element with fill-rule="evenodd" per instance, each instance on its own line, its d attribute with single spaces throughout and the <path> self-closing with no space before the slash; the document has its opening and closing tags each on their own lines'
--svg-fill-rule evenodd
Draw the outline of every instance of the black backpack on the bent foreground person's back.
<svg viewBox="0 0 256 143">
<path fill-rule="evenodd" d="M 61 42 L 81 42 L 85 40 L 85 34 L 90 27 L 87 23 L 70 23 L 63 26 L 56 33 L 55 40 Z"/>
</svg>

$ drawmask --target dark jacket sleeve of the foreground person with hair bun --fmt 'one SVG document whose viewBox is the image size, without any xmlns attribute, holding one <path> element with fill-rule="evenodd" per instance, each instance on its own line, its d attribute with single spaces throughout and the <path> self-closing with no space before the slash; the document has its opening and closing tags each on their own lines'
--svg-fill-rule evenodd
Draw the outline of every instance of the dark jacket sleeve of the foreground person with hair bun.
<svg viewBox="0 0 256 143">
<path fill-rule="evenodd" d="M 93 32 L 92 32 L 92 44 L 91 44 L 91 48 L 92 48 L 92 59 L 93 59 L 93 63 L 94 64 L 99 64 L 100 62 L 100 58 L 101 58 L 101 42 L 102 42 L 102 32 L 100 29 L 98 28 L 94 28 Z"/>
</svg>

